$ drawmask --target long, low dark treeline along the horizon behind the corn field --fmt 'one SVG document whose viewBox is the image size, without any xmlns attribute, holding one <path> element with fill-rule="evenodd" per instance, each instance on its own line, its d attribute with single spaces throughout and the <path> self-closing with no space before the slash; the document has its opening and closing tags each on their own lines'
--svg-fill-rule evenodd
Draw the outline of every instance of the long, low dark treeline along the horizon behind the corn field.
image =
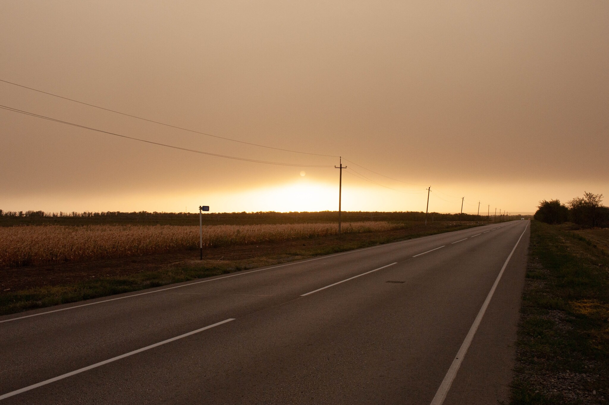
<svg viewBox="0 0 609 405">
<path fill-rule="evenodd" d="M 487 221 L 493 215 L 449 214 L 430 212 L 428 221 Z M 497 221 L 520 219 L 521 216 L 497 216 Z M 342 221 L 424 221 L 424 212 L 342 212 Z M 337 211 L 322 212 L 224 212 L 205 213 L 203 223 L 211 224 L 287 224 L 338 221 Z M 189 212 L 44 212 L 2 211 L 0 226 L 13 225 L 85 225 L 85 224 L 171 224 L 198 225 L 199 213 Z"/>
</svg>

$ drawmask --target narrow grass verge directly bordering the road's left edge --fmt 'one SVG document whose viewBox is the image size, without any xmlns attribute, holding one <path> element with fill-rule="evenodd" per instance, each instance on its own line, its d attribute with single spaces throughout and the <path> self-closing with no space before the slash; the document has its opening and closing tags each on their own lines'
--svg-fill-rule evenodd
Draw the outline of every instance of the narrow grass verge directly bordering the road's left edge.
<svg viewBox="0 0 609 405">
<path fill-rule="evenodd" d="M 335 241 L 329 246 L 327 244 L 325 246 L 315 246 L 315 241 L 323 238 L 307 238 L 306 246 L 299 246 L 297 249 L 292 247 L 281 252 L 269 252 L 269 254 L 258 255 L 245 260 L 188 260 L 173 263 L 155 271 L 136 272 L 113 277 L 97 277 L 77 283 L 66 283 L 66 285 L 40 286 L 19 291 L 2 292 L 0 294 L 0 315 L 187 282 L 262 266 L 278 265 L 289 261 L 452 232 L 475 226 L 479 226 L 479 224 L 447 224 L 445 227 L 430 228 L 428 231 L 413 234 L 387 236 L 381 232 L 362 237 L 354 236 L 354 240 L 349 240 L 348 237 L 331 237 Z"/>
</svg>

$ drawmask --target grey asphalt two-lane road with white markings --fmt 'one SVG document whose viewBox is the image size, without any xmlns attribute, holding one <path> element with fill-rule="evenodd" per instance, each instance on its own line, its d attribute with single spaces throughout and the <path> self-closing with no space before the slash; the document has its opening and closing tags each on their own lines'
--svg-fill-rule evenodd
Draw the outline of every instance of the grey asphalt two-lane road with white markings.
<svg viewBox="0 0 609 405">
<path fill-rule="evenodd" d="M 528 224 L 0 317 L 1 403 L 496 404 Z"/>
</svg>

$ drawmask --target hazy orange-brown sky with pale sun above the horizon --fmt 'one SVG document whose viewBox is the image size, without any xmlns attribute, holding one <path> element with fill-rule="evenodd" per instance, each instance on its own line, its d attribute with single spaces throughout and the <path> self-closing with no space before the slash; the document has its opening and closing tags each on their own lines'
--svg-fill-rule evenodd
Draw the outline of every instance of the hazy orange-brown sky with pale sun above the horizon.
<svg viewBox="0 0 609 405">
<path fill-rule="evenodd" d="M 344 162 L 346 210 L 424 210 L 429 185 L 439 212 L 609 199 L 604 0 L 2 1 L 0 79 L 412 183 Z M 336 157 L 3 82 L 0 105 L 331 166 L 0 109 L 0 209 L 337 209 Z"/>
</svg>

